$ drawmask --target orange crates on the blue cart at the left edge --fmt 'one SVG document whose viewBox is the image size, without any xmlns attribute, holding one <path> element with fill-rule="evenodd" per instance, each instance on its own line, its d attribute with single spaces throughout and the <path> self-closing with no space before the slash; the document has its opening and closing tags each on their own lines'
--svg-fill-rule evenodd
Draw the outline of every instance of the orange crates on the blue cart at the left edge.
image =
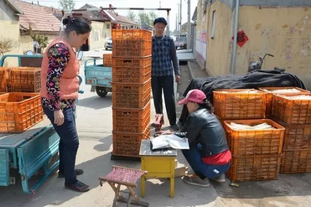
<svg viewBox="0 0 311 207">
<path fill-rule="evenodd" d="M 0 133 L 20 133 L 43 120 L 40 70 L 0 67 Z"/>
</svg>

